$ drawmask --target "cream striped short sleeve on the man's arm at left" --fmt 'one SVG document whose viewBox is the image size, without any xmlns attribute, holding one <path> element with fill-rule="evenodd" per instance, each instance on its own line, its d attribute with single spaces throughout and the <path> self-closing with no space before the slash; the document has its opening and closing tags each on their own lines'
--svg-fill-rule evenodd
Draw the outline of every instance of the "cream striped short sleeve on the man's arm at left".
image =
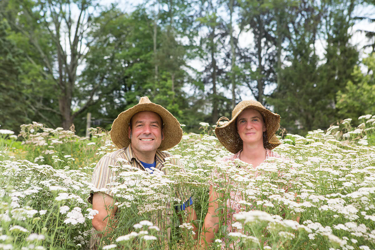
<svg viewBox="0 0 375 250">
<path fill-rule="evenodd" d="M 111 191 L 113 185 L 111 183 L 115 181 L 117 175 L 115 175 L 115 173 L 111 170 L 110 166 L 119 165 L 115 159 L 109 156 L 103 156 L 96 164 L 91 180 L 91 192 L 89 198 L 87 198 L 87 201 L 89 201 L 91 204 L 93 195 L 96 192 L 102 192 L 113 196 L 113 192 Z"/>
</svg>

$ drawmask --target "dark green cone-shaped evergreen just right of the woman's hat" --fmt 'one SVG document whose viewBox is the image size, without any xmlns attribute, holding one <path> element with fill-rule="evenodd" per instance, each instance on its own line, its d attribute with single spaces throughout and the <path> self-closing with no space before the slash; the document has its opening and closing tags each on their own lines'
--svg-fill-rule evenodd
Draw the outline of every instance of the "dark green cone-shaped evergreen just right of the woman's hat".
<svg viewBox="0 0 375 250">
<path fill-rule="evenodd" d="M 328 127 L 335 115 L 329 98 L 332 90 L 322 81 L 317 55 L 301 40 L 293 58 L 292 65 L 282 70 L 281 84 L 267 102 L 281 115 L 281 126 L 290 133 Z"/>
</svg>

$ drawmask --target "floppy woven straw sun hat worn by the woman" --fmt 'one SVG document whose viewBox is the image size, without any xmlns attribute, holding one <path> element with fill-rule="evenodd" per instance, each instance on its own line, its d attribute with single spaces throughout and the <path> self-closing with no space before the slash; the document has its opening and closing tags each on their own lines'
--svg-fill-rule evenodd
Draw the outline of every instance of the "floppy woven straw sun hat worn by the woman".
<svg viewBox="0 0 375 250">
<path fill-rule="evenodd" d="M 234 107 L 232 111 L 232 119 L 229 120 L 226 117 L 220 117 L 216 123 L 215 134 L 220 143 L 231 153 L 236 154 L 243 148 L 243 141 L 237 132 L 236 119 L 245 109 L 256 109 L 259 111 L 266 125 L 266 132 L 263 137 L 263 146 L 272 150 L 281 144 L 279 139 L 276 137 L 275 133 L 280 127 L 280 115 L 273 113 L 269 109 L 264 108 L 264 106 L 254 100 L 245 100 L 240 102 Z M 221 123 L 227 121 L 222 126 Z"/>
</svg>

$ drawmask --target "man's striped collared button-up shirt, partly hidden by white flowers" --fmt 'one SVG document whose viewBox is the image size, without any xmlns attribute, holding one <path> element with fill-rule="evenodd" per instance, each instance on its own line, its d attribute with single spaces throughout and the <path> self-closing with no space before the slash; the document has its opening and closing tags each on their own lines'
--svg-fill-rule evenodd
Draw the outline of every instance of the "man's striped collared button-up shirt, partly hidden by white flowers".
<svg viewBox="0 0 375 250">
<path fill-rule="evenodd" d="M 163 165 L 165 162 L 171 163 L 172 165 L 179 166 L 181 168 L 181 172 L 185 172 L 183 166 L 181 165 L 181 162 L 177 159 L 170 158 L 168 161 L 165 161 L 166 157 L 171 157 L 171 154 L 168 154 L 163 151 L 156 151 L 155 154 L 155 160 L 156 160 L 156 169 L 159 169 L 164 172 L 164 174 L 168 174 L 168 168 L 163 168 Z M 106 193 L 107 195 L 114 196 L 114 193 L 112 192 L 113 185 L 113 177 L 115 177 L 115 173 L 111 170 L 110 166 L 120 166 L 118 159 L 124 159 L 127 162 L 121 162 L 121 164 L 129 164 L 132 167 L 139 168 L 142 170 L 145 170 L 144 166 L 142 165 L 141 161 L 135 156 L 131 146 L 127 148 L 122 148 L 117 151 L 114 151 L 112 153 L 106 154 L 103 156 L 99 162 L 96 164 L 93 175 L 92 175 L 92 192 L 90 193 L 90 196 L 88 198 L 88 201 L 92 204 L 92 198 L 93 193 L 100 192 Z M 104 191 L 105 190 L 105 191 Z M 176 198 L 178 200 L 181 200 L 182 202 L 188 201 L 190 198 L 190 192 L 189 189 L 177 189 L 176 190 Z M 160 217 L 159 215 L 155 215 L 154 218 L 152 218 L 154 223 L 163 231 L 166 230 L 167 237 L 169 238 L 171 229 L 170 229 L 170 214 L 168 211 L 170 211 L 171 205 L 165 204 L 166 209 L 161 214 L 162 220 L 157 220 L 157 217 Z M 164 231 L 165 232 L 165 231 Z M 92 237 L 90 241 L 90 250 L 97 250 L 98 244 L 100 243 L 101 237 L 98 233 L 96 233 L 95 229 L 92 229 Z"/>
</svg>

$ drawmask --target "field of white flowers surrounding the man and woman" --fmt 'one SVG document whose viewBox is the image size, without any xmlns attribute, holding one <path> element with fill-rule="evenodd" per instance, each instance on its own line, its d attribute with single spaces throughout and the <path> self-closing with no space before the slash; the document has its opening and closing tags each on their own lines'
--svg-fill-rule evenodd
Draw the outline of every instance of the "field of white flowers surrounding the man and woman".
<svg viewBox="0 0 375 250">
<path fill-rule="evenodd" d="M 225 194 L 240 192 L 243 211 L 233 222 L 237 232 L 228 234 L 221 226 L 212 249 L 220 249 L 226 237 L 228 243 L 239 241 L 236 249 L 375 250 L 375 116 L 360 120 L 358 127 L 347 119 L 306 137 L 284 135 L 275 151 L 290 162 L 270 159 L 258 166 L 256 177 L 249 166 L 219 163 L 230 153 L 202 123 L 201 134 L 184 134 L 169 150 L 186 174 L 169 165 L 168 176 L 127 165 L 114 169 L 118 223 L 100 248 L 193 249 L 191 226 L 180 225 L 176 211 L 168 213 L 169 240 L 150 222 L 151 214 L 176 202 L 176 188 L 189 188 L 201 225 L 213 182 Z M 21 126 L 19 136 L 0 129 L 0 250 L 88 249 L 95 214 L 87 202 L 91 174 L 112 150 L 108 132 L 98 129 L 90 138 L 39 123 Z M 231 182 L 213 179 L 213 168 Z M 226 198 L 224 215 L 230 212 Z"/>
</svg>

